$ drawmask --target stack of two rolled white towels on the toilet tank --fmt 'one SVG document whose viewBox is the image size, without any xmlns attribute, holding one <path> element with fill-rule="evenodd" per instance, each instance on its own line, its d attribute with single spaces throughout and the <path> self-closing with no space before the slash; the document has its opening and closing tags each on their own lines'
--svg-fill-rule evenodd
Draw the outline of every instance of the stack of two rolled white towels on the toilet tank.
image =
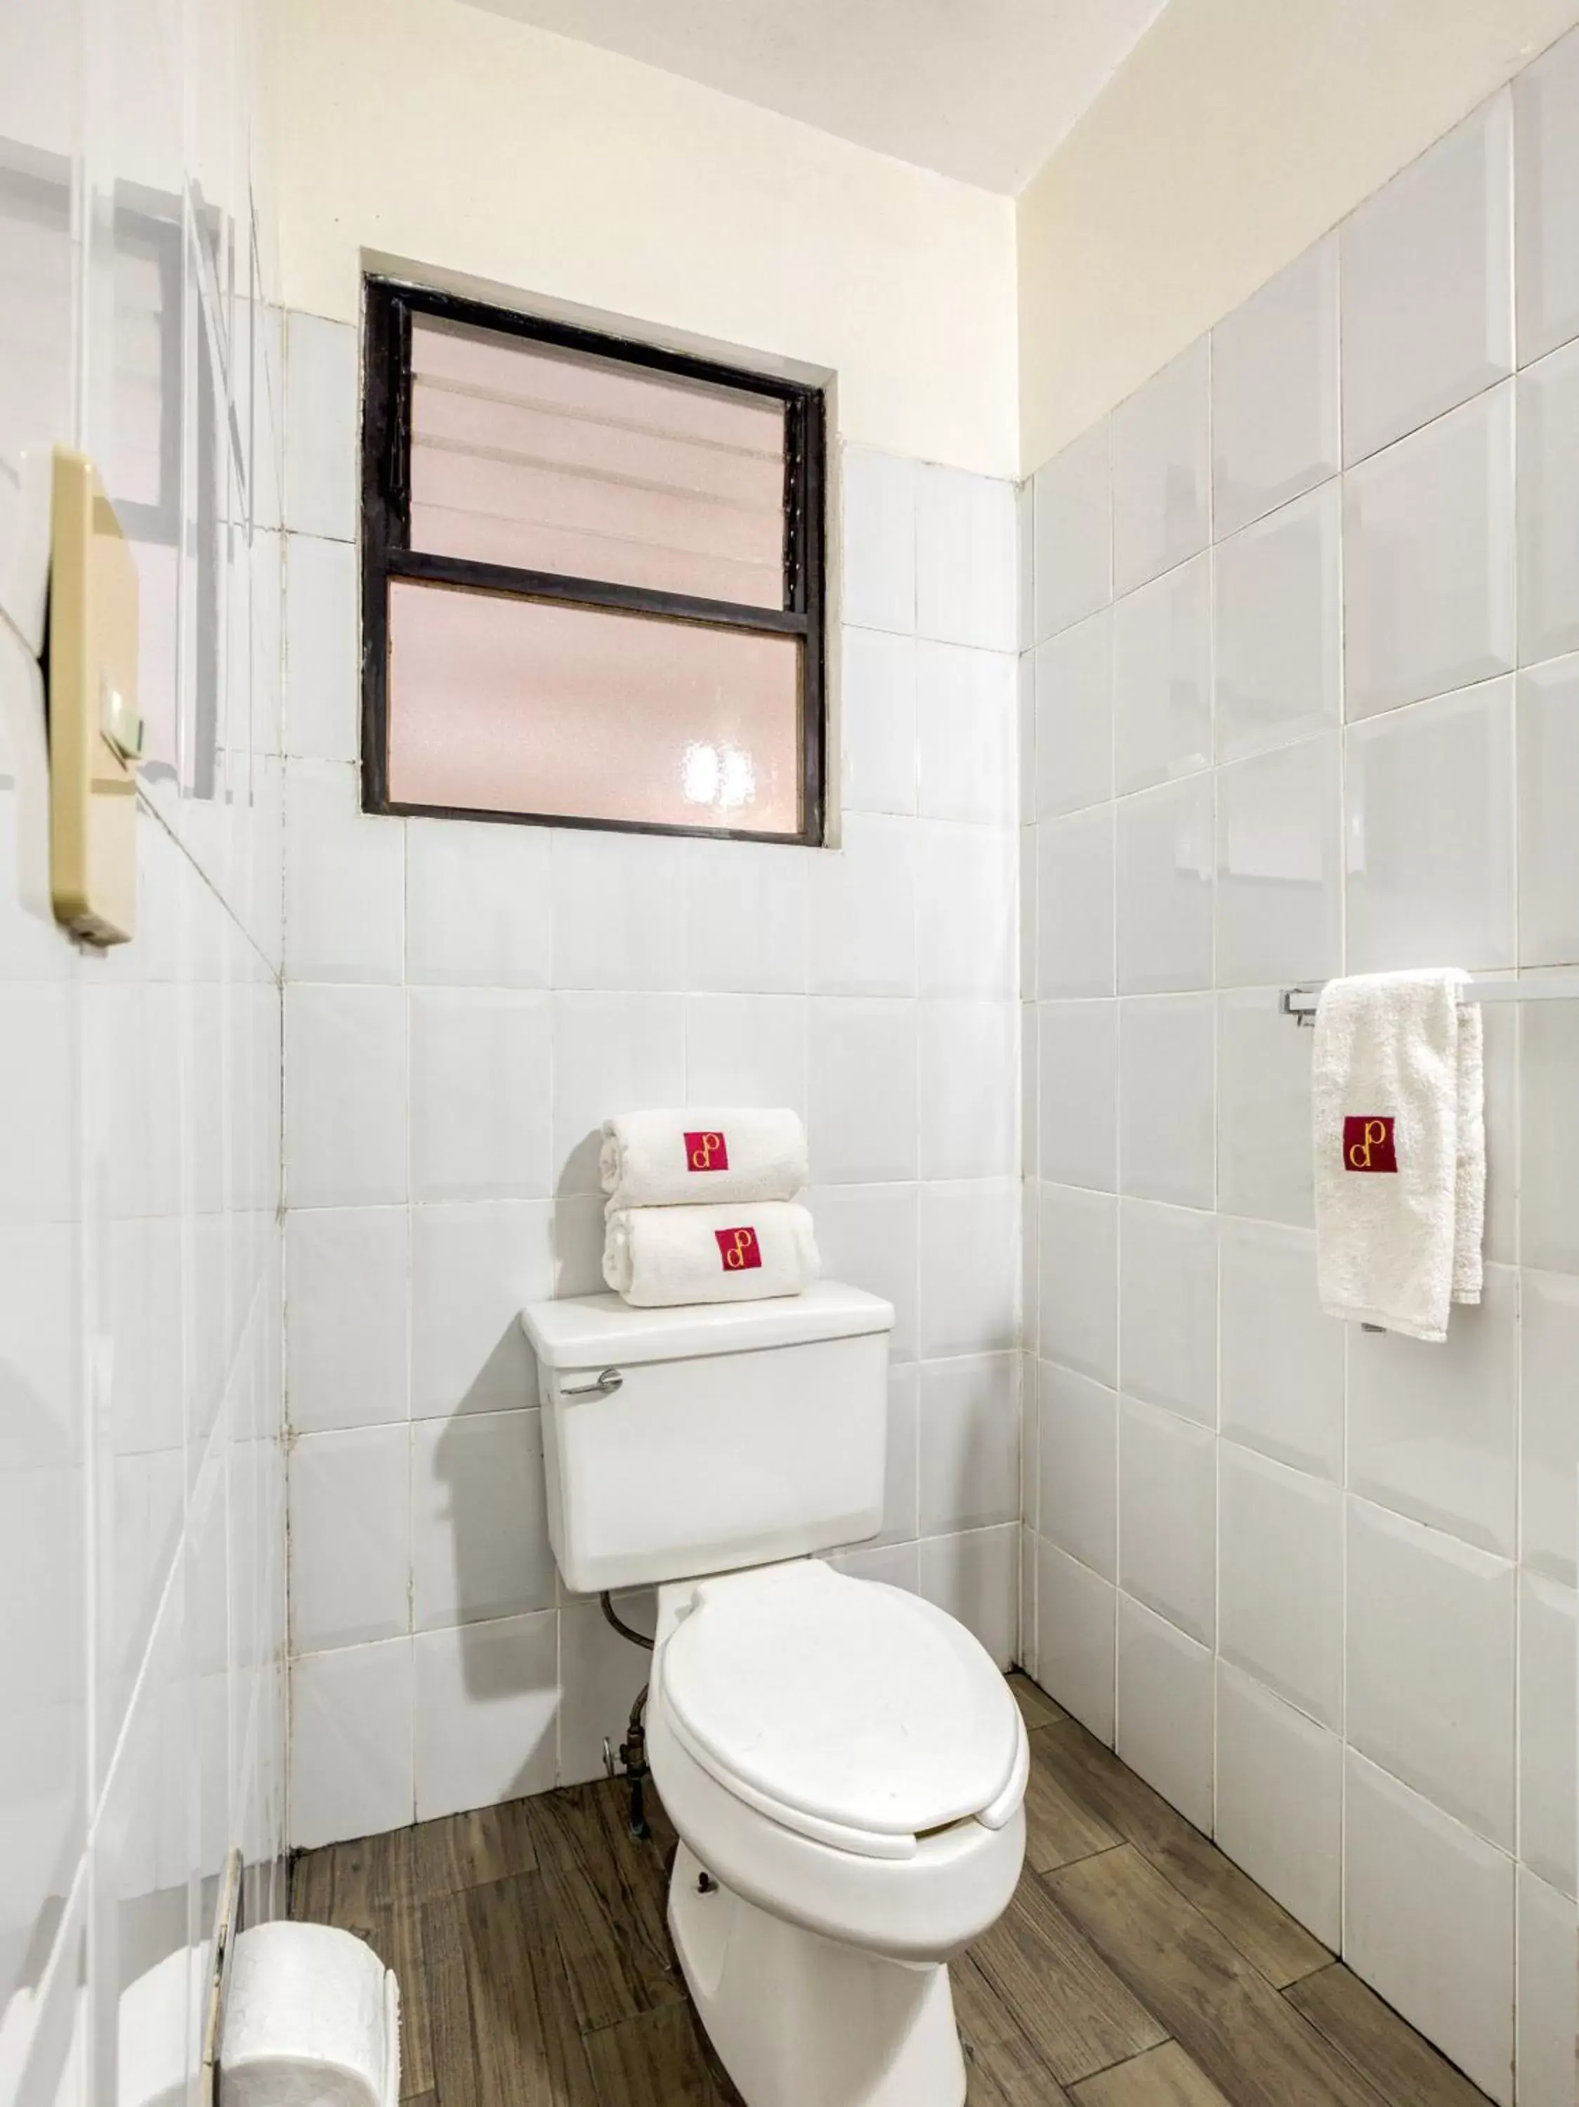
<svg viewBox="0 0 1579 2107">
<path fill-rule="evenodd" d="M 816 1281 L 795 1112 L 622 1112 L 603 1123 L 599 1167 L 603 1279 L 637 1308 L 799 1296 Z"/>
</svg>

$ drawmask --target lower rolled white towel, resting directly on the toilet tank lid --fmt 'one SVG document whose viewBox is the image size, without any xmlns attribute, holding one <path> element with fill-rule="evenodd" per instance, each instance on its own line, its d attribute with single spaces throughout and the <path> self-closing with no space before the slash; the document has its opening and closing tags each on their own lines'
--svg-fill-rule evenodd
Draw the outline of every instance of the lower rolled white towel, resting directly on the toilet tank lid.
<svg viewBox="0 0 1579 2107">
<path fill-rule="evenodd" d="M 637 1308 L 799 1296 L 818 1273 L 812 1216 L 793 1201 L 609 1209 L 603 1279 Z"/>
</svg>

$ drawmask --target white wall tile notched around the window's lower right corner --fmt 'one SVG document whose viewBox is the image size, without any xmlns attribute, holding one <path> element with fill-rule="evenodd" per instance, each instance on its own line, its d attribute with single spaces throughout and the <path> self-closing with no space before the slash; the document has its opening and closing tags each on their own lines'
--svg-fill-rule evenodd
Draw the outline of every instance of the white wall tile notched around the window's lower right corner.
<svg viewBox="0 0 1579 2107">
<path fill-rule="evenodd" d="M 915 995 L 915 828 L 847 813 L 812 864 L 812 988 Z"/>
</svg>

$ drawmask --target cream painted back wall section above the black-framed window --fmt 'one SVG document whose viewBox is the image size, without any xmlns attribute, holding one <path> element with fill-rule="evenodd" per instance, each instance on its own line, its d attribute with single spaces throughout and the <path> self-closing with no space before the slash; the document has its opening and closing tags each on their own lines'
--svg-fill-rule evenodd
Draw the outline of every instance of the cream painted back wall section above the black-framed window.
<svg viewBox="0 0 1579 2107">
<path fill-rule="evenodd" d="M 1014 202 L 460 0 L 280 0 L 285 299 L 360 253 L 831 369 L 847 440 L 1016 468 Z"/>
</svg>

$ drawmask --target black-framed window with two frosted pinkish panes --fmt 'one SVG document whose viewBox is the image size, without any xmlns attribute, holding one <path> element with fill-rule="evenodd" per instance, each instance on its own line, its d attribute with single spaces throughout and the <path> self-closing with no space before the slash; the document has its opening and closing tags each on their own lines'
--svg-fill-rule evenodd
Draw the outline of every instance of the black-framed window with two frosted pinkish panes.
<svg viewBox="0 0 1579 2107">
<path fill-rule="evenodd" d="M 363 803 L 822 839 L 822 396 L 369 280 Z"/>
</svg>

